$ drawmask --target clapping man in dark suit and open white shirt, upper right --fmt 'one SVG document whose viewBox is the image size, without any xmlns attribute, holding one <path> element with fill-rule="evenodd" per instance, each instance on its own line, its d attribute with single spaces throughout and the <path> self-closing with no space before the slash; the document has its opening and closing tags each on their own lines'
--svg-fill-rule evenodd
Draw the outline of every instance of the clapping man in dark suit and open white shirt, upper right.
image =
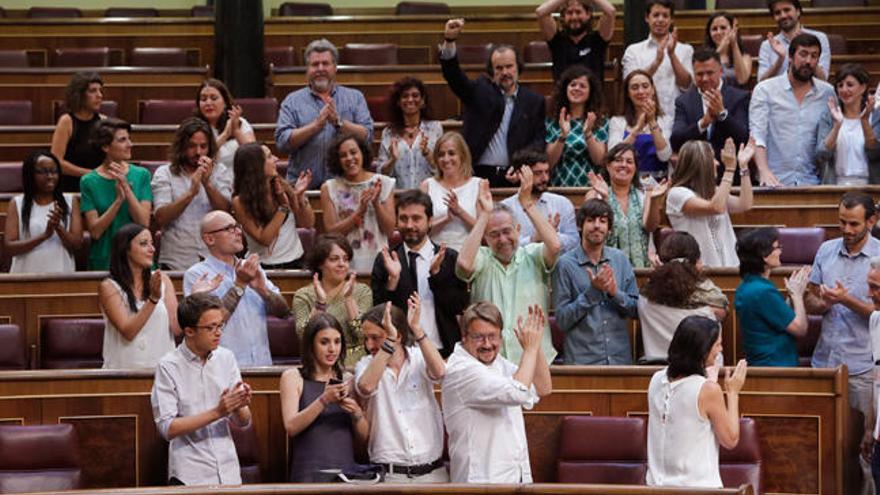
<svg viewBox="0 0 880 495">
<path fill-rule="evenodd" d="M 722 82 L 721 58 L 715 50 L 700 48 L 693 63 L 696 86 L 675 100 L 672 149 L 678 152 L 684 143 L 702 139 L 712 144 L 720 162 L 727 138 L 737 147 L 749 140 L 749 93 Z"/>
</svg>

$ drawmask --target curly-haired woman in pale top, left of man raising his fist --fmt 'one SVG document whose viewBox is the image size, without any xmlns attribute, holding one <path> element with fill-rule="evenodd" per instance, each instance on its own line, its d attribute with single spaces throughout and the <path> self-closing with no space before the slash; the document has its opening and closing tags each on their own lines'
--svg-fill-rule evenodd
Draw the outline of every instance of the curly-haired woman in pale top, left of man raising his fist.
<svg viewBox="0 0 880 495">
<path fill-rule="evenodd" d="M 377 170 L 397 179 L 398 189 L 419 187 L 434 174 L 434 148 L 443 126 L 431 120 L 425 83 L 406 76 L 394 83 L 388 98 L 391 120 L 382 130 Z"/>
</svg>

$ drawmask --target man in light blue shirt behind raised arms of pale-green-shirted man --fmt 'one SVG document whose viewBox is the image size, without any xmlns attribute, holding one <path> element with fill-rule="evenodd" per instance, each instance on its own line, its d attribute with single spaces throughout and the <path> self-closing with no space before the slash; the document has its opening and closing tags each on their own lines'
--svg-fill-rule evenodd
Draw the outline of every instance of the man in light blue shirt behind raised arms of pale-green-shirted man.
<svg viewBox="0 0 880 495">
<path fill-rule="evenodd" d="M 535 150 L 517 151 L 513 155 L 512 170 L 520 170 L 522 167 L 532 170 L 531 200 L 537 203 L 538 210 L 547 217 L 550 225 L 558 232 L 559 240 L 562 242 L 562 252 L 574 249 L 580 239 L 577 225 L 574 223 L 574 206 L 565 196 L 547 191 L 547 185 L 550 183 L 550 163 L 547 153 Z M 519 224 L 520 246 L 541 242 L 535 226 L 523 210 L 518 194 L 503 200 L 501 204 L 510 208 L 514 220 Z"/>
</svg>

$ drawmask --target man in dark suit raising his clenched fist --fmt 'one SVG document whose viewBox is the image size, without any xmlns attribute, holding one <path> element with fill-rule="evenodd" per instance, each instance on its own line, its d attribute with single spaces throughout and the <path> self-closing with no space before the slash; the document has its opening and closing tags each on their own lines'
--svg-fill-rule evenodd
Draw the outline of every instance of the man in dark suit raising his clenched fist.
<svg viewBox="0 0 880 495">
<path fill-rule="evenodd" d="M 544 149 L 544 97 L 519 85 L 522 63 L 510 45 L 492 48 L 488 76 L 468 79 L 455 50 L 462 26 L 464 19 L 446 22 L 440 45 L 443 78 L 464 104 L 461 133 L 470 148 L 474 174 L 488 179 L 492 187 L 512 187 L 505 178 L 510 157 L 524 148 Z"/>
</svg>

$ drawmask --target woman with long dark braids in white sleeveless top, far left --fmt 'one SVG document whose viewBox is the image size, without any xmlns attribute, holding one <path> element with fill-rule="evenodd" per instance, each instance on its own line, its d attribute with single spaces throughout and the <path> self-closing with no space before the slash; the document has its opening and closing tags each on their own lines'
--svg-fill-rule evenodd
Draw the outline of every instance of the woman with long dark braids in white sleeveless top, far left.
<svg viewBox="0 0 880 495">
<path fill-rule="evenodd" d="M 70 273 L 73 251 L 82 244 L 79 200 L 62 194 L 61 163 L 46 150 L 31 153 L 21 168 L 24 194 L 6 211 L 3 251 L 10 273 Z"/>
</svg>

